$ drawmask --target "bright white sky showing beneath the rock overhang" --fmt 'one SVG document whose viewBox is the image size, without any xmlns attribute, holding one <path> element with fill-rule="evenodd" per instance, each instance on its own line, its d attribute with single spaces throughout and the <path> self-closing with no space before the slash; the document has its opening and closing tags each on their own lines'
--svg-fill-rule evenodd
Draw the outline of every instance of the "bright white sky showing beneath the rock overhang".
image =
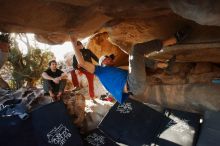
<svg viewBox="0 0 220 146">
<path fill-rule="evenodd" d="M 30 40 L 30 43 L 33 44 L 34 39 L 35 39 L 34 34 L 27 34 L 27 36 Z M 88 42 L 88 40 L 89 40 L 89 37 L 87 37 L 81 41 L 83 44 L 85 44 Z M 26 46 L 24 45 L 24 43 L 22 41 L 19 41 L 18 39 L 17 39 L 17 41 L 18 41 L 19 48 L 21 48 L 25 54 L 27 52 Z M 41 48 L 43 50 L 48 49 L 51 52 L 53 52 L 57 61 L 63 61 L 65 54 L 73 53 L 73 47 L 72 47 L 71 42 L 65 42 L 64 44 L 61 44 L 61 45 L 48 45 L 48 44 L 37 42 L 37 45 L 39 46 L 39 48 Z"/>
</svg>

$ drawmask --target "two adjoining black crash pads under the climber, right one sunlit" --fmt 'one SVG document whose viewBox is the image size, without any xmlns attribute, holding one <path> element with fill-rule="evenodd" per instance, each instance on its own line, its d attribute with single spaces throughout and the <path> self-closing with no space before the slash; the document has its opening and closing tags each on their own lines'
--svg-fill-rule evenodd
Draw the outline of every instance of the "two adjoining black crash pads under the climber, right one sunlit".
<svg viewBox="0 0 220 146">
<path fill-rule="evenodd" d="M 98 128 L 113 141 L 129 146 L 195 145 L 200 115 L 166 109 L 154 109 L 128 99 L 116 103 L 99 124 Z"/>
</svg>

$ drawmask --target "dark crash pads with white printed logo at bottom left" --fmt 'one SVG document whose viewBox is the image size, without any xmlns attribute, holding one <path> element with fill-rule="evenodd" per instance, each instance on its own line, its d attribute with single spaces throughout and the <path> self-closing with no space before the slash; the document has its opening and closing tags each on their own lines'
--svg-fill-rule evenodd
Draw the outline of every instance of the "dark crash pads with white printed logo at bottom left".
<svg viewBox="0 0 220 146">
<path fill-rule="evenodd" d="M 0 145 L 83 145 L 79 131 L 72 124 L 62 101 L 42 106 L 28 114 L 27 119 L 17 115 L 0 116 Z"/>
</svg>

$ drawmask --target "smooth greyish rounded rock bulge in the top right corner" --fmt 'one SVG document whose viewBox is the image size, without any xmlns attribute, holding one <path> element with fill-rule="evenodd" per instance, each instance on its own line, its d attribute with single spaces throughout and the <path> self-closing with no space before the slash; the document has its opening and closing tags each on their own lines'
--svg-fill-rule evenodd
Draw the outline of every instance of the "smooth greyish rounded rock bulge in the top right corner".
<svg viewBox="0 0 220 146">
<path fill-rule="evenodd" d="M 170 7 L 175 13 L 201 25 L 220 26 L 219 5 L 220 2 L 215 0 L 170 0 Z"/>
</svg>

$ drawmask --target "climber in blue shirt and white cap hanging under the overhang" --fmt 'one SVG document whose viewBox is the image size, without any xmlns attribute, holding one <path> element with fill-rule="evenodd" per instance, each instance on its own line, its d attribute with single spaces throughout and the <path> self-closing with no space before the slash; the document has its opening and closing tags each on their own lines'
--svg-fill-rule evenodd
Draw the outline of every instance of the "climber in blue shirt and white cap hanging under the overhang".
<svg viewBox="0 0 220 146">
<path fill-rule="evenodd" d="M 175 45 L 186 38 L 188 34 L 188 32 L 180 30 L 175 36 L 166 40 L 155 39 L 135 44 L 129 54 L 129 71 L 108 65 L 100 66 L 107 59 L 105 57 L 103 57 L 104 59 L 100 58 L 99 66 L 85 61 L 77 46 L 77 39 L 70 35 L 70 40 L 79 65 L 88 72 L 94 73 L 104 87 L 122 104 L 129 95 L 133 95 L 134 99 L 135 96 L 143 96 L 147 87 L 145 55 L 154 51 L 161 51 L 165 46 Z"/>
</svg>

